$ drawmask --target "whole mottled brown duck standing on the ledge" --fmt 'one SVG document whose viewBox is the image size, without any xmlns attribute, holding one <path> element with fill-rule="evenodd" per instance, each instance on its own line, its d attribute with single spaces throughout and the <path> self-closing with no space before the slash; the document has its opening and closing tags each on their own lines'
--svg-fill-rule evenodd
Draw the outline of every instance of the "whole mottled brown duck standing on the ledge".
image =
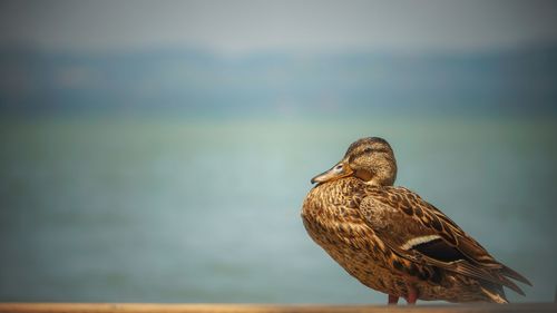
<svg viewBox="0 0 557 313">
<path fill-rule="evenodd" d="M 388 295 L 453 303 L 508 303 L 531 283 L 495 260 L 417 193 L 393 186 L 394 153 L 380 137 L 361 138 L 331 169 L 313 177 L 302 205 L 310 237 L 363 285 Z"/>
</svg>

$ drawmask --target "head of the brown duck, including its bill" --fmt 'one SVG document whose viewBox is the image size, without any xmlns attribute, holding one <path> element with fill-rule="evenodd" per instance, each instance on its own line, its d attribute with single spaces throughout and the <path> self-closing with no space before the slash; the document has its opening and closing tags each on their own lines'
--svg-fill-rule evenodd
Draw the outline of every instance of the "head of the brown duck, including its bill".
<svg viewBox="0 0 557 313">
<path fill-rule="evenodd" d="M 389 143 L 379 137 L 361 138 L 350 145 L 336 165 L 311 182 L 322 184 L 350 176 L 368 185 L 392 186 L 397 178 L 397 162 Z"/>
</svg>

